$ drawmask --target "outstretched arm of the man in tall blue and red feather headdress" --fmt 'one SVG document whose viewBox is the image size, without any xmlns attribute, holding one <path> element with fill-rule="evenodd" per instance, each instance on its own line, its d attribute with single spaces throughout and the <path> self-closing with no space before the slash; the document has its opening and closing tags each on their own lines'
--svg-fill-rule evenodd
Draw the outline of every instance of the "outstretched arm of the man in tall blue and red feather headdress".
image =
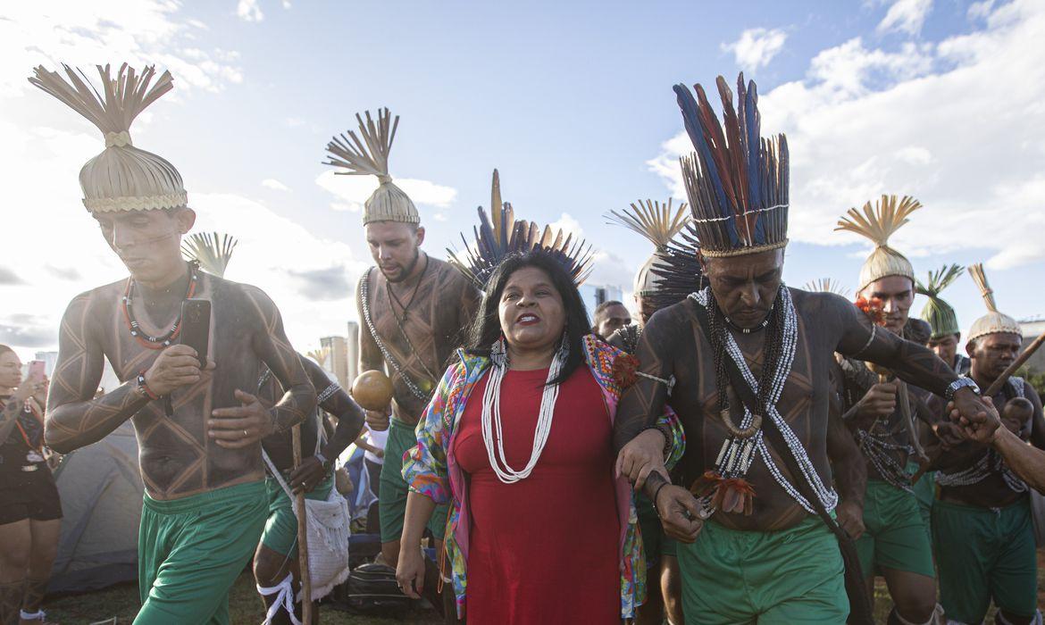
<svg viewBox="0 0 1045 625">
<path fill-rule="evenodd" d="M 864 314 L 841 297 L 827 294 L 821 297 L 830 298 L 831 303 L 825 307 L 834 308 L 830 311 L 841 322 L 837 346 L 840 353 L 887 367 L 904 381 L 940 396 L 957 379 L 957 374 L 929 348 L 874 326 Z"/>
</svg>

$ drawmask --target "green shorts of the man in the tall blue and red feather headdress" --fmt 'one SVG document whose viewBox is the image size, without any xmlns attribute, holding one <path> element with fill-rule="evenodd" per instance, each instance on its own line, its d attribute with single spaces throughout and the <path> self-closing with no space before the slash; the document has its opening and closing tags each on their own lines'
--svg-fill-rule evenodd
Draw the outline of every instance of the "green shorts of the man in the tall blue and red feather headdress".
<svg viewBox="0 0 1045 625">
<path fill-rule="evenodd" d="M 838 539 L 809 516 L 779 532 L 732 530 L 714 520 L 678 545 L 687 622 L 844 623 L 849 617 Z"/>
</svg>

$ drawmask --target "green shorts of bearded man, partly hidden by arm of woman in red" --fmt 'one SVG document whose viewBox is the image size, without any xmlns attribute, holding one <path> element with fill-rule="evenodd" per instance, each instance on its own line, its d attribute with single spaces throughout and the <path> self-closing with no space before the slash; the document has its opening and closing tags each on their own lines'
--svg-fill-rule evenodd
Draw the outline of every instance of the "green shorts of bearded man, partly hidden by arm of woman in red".
<svg viewBox="0 0 1045 625">
<path fill-rule="evenodd" d="M 394 542 L 402 536 L 402 520 L 407 515 L 407 494 L 410 488 L 402 479 L 402 457 L 417 444 L 414 426 L 399 419 L 390 419 L 389 438 L 385 443 L 385 464 L 381 465 L 381 494 L 377 511 L 381 522 L 381 542 Z M 446 533 L 445 504 L 436 506 L 428 529 L 437 540 Z"/>
</svg>

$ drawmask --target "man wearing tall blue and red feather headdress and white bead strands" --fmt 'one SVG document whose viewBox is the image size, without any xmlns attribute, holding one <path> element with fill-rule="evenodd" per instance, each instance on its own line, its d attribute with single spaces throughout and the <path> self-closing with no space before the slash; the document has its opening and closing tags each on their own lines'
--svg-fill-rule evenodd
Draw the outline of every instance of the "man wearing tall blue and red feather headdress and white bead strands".
<svg viewBox="0 0 1045 625">
<path fill-rule="evenodd" d="M 787 142 L 760 136 L 753 83 L 738 80 L 739 110 L 721 77 L 718 87 L 721 124 L 699 85 L 699 101 L 675 87 L 696 148 L 682 175 L 710 286 L 650 319 L 638 341 L 643 375 L 621 400 L 616 442 L 632 441 L 666 402 L 693 441 L 673 477 L 681 486 L 664 470 L 645 485 L 680 542 L 688 619 L 870 623 L 855 550 L 831 514 L 838 493 L 828 456 L 847 436 L 829 429 L 834 353 L 881 363 L 953 397 L 962 414 L 989 408 L 923 345 L 877 331 L 840 297 L 784 285 Z M 663 455 L 654 443 L 664 441 L 650 438 L 636 458 Z"/>
</svg>

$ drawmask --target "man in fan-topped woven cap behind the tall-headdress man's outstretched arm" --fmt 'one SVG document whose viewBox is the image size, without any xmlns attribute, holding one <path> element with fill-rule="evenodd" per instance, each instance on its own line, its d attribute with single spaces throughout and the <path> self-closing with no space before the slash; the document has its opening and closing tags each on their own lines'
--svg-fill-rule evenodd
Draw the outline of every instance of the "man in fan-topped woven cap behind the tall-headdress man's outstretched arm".
<svg viewBox="0 0 1045 625">
<path fill-rule="evenodd" d="M 929 324 L 909 317 L 914 302 L 914 269 L 888 245 L 889 237 L 921 208 L 913 198 L 882 195 L 863 210 L 850 209 L 836 230 L 855 232 L 872 240 L 875 249 L 860 269 L 858 305 L 877 316 L 876 323 L 890 333 L 925 345 Z M 932 561 L 922 507 L 908 467 L 926 462 L 918 418 L 931 425 L 937 418 L 926 406 L 928 393 L 908 387 L 889 371 L 867 366 L 855 357 L 838 355 L 842 370 L 845 420 L 866 459 L 867 486 L 863 497 L 864 532 L 856 537 L 860 563 L 868 585 L 880 573 L 892 597 L 889 623 L 932 623 L 936 605 L 936 572 Z M 945 430 L 953 429 L 950 423 Z M 935 437 L 933 437 L 935 438 Z M 839 510 L 839 517 L 845 510 Z"/>
</svg>

